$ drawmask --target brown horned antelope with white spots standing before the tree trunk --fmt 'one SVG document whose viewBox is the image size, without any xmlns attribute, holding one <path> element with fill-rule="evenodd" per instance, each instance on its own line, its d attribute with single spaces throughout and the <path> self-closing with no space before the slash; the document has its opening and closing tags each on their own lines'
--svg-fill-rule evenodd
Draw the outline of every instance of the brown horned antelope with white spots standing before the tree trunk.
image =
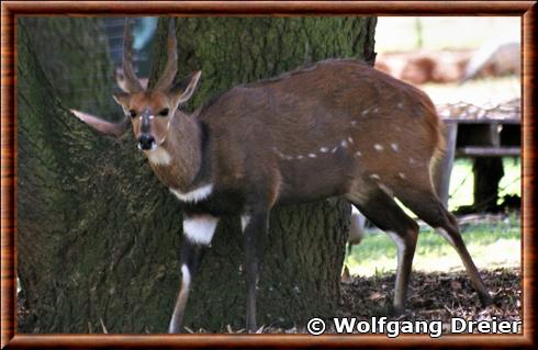
<svg viewBox="0 0 538 350">
<path fill-rule="evenodd" d="M 177 43 L 168 26 L 167 64 L 155 87 L 143 89 L 124 32 L 122 87 L 114 94 L 125 117 L 111 123 L 72 113 L 119 136 L 131 120 L 137 146 L 155 174 L 183 202 L 181 286 L 169 324 L 180 332 L 201 252 L 223 216 L 240 216 L 246 259 L 246 328 L 256 325 L 256 285 L 271 208 L 344 196 L 397 248 L 392 308 L 405 308 L 418 225 L 400 199 L 448 240 L 461 257 L 484 305 L 491 296 L 439 201 L 431 171 L 442 153 L 439 118 L 414 87 L 355 59 L 327 59 L 274 79 L 237 86 L 191 115 L 179 106 L 193 94 L 194 71 L 175 83 Z M 315 173 L 315 177 L 312 177 Z"/>
</svg>

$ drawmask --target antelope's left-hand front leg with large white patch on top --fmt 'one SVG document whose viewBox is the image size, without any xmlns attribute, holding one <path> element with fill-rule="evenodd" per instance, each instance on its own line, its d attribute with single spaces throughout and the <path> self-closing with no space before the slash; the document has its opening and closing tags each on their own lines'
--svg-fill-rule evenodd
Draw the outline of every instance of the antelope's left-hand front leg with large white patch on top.
<svg viewBox="0 0 538 350">
<path fill-rule="evenodd" d="M 183 218 L 183 241 L 181 247 L 181 289 L 179 290 L 168 332 L 181 332 L 184 308 L 189 298 L 192 279 L 211 244 L 218 218 L 211 215 L 193 215 Z"/>
</svg>

